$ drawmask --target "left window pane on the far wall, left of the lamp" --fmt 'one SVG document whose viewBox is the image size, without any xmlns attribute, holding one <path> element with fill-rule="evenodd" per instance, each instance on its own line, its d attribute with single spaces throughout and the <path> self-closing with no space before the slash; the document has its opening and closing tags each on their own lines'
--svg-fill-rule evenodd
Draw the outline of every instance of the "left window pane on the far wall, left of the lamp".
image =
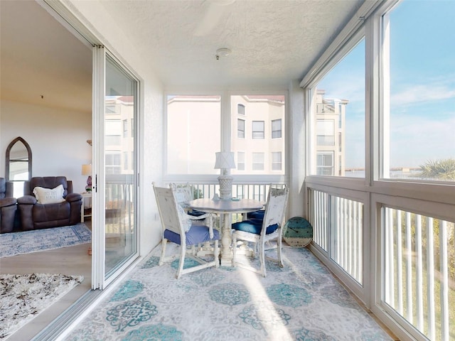
<svg viewBox="0 0 455 341">
<path fill-rule="evenodd" d="M 167 173 L 218 173 L 213 166 L 215 152 L 220 151 L 220 96 L 167 100 Z"/>
</svg>

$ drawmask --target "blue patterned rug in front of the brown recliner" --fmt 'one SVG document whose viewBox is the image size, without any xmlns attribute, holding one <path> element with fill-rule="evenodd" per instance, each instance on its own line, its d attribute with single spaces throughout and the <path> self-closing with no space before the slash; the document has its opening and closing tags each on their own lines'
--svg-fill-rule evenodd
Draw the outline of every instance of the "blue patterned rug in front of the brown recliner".
<svg viewBox="0 0 455 341">
<path fill-rule="evenodd" d="M 82 222 L 72 226 L 0 234 L 0 257 L 90 243 L 92 232 Z"/>
</svg>

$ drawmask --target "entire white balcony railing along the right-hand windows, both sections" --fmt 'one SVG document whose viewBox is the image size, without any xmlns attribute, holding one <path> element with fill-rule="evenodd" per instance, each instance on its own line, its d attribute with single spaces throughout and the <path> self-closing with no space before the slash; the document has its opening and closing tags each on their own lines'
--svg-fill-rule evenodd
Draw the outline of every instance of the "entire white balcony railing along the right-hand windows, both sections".
<svg viewBox="0 0 455 341">
<path fill-rule="evenodd" d="M 356 289 L 353 281 L 343 282 L 358 290 L 365 301 L 376 293 L 369 281 L 363 283 L 363 273 L 373 271 L 372 284 L 380 288 L 373 301 L 417 340 L 455 340 L 454 222 L 418 212 L 424 205 L 418 200 L 379 195 L 372 204 L 366 191 L 327 183 L 306 187 L 307 212 L 314 229 L 312 249 L 333 271 L 341 269 L 343 275 L 337 272 L 338 276 L 355 279 L 361 289 Z M 378 197 L 409 207 L 397 209 L 378 201 Z M 365 207 L 373 208 L 368 217 Z M 373 244 L 364 247 L 368 239 Z M 372 253 L 370 247 L 374 245 L 380 250 Z M 380 259 L 370 258 L 373 254 Z M 374 271 L 377 267 L 379 270 Z"/>
</svg>

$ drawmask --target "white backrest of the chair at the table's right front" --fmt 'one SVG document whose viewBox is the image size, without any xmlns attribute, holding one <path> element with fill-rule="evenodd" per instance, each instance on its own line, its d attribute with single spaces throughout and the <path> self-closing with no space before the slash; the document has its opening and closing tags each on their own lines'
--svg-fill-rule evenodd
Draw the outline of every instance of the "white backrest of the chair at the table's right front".
<svg viewBox="0 0 455 341">
<path fill-rule="evenodd" d="M 265 234 L 267 227 L 278 224 L 282 226 L 284 212 L 286 212 L 289 188 L 270 188 L 262 222 L 261 234 Z"/>
</svg>

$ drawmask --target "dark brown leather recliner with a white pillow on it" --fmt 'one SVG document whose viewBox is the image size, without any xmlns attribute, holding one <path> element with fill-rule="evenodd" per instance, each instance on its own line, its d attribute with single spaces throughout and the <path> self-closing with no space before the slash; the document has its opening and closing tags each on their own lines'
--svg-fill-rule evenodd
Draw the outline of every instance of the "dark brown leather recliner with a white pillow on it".
<svg viewBox="0 0 455 341">
<path fill-rule="evenodd" d="M 33 195 L 33 189 L 36 187 L 53 189 L 58 185 L 63 185 L 62 202 L 41 204 Z M 23 193 L 24 196 L 19 197 L 17 202 L 21 228 L 24 231 L 68 226 L 80 222 L 82 195 L 73 193 L 73 182 L 66 180 L 64 176 L 31 178 L 24 183 Z"/>
</svg>

